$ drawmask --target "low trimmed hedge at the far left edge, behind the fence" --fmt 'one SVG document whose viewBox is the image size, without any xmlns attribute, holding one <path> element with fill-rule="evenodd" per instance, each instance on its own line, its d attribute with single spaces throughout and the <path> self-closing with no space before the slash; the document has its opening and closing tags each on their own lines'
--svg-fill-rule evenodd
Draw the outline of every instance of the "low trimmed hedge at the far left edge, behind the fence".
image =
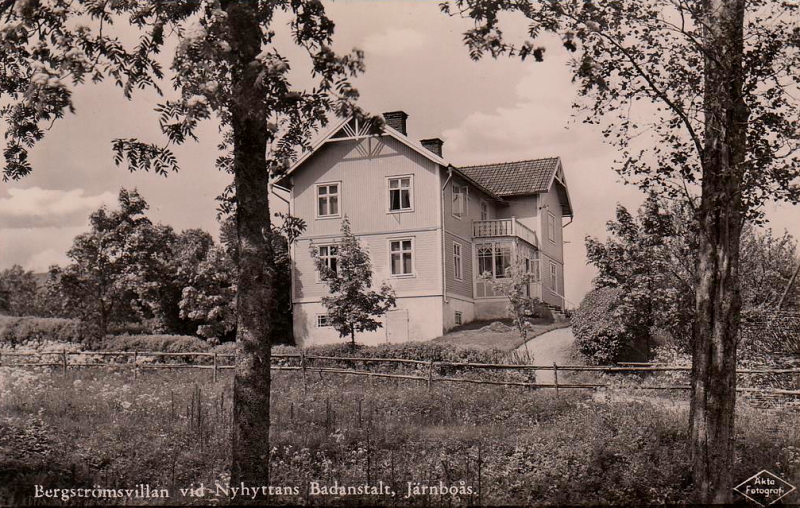
<svg viewBox="0 0 800 508">
<path fill-rule="evenodd" d="M 0 346 L 35 348 L 47 341 L 88 344 L 91 338 L 77 319 L 0 316 Z"/>
</svg>

